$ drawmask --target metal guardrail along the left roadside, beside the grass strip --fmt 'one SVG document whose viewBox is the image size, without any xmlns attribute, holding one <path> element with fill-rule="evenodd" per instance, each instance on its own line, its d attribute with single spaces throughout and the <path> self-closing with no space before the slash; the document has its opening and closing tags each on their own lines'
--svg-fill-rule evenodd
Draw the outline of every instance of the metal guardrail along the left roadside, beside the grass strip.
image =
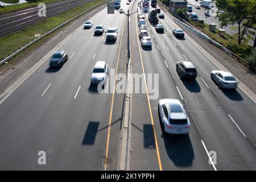
<svg viewBox="0 0 256 182">
<path fill-rule="evenodd" d="M 36 38 L 35 40 L 32 40 L 30 43 L 28 43 L 28 44 L 26 44 L 25 46 L 23 46 L 22 48 L 18 49 L 18 51 L 15 51 L 15 52 L 12 53 L 10 56 L 8 56 L 8 57 L 6 57 L 5 59 L 3 59 L 2 61 L 0 61 L 0 65 L 2 65 L 3 63 L 6 63 L 6 61 L 8 61 L 8 60 L 10 60 L 11 58 L 13 58 L 14 56 L 18 55 L 18 53 L 24 51 L 24 49 L 30 47 L 32 44 L 38 42 L 40 39 L 44 38 L 45 36 L 51 34 L 51 33 L 54 32 L 54 31 L 56 31 L 56 30 L 59 29 L 60 27 L 63 27 L 65 24 L 71 22 L 72 20 L 76 19 L 77 17 L 81 16 L 82 14 L 84 14 L 84 13 L 86 13 L 86 12 L 88 12 L 88 11 L 90 11 L 90 10 L 92 10 L 92 9 L 94 9 L 94 8 L 96 8 L 96 7 L 98 7 L 98 6 L 104 5 L 104 3 L 109 2 L 109 1 L 111 1 L 111 0 L 102 2 L 102 3 L 100 3 L 100 4 L 96 5 L 96 6 L 90 7 L 88 10 L 83 11 L 82 13 L 80 13 L 80 14 L 74 16 L 73 18 L 67 20 L 67 21 L 64 22 L 64 23 L 61 23 L 59 26 L 57 26 L 57 27 L 53 28 L 52 30 L 46 32 L 45 34 L 39 36 L 39 38 Z"/>
</svg>

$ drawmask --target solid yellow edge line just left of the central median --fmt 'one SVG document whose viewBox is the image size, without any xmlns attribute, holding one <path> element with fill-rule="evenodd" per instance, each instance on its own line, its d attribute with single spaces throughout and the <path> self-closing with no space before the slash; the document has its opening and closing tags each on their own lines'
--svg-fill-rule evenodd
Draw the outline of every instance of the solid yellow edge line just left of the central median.
<svg viewBox="0 0 256 182">
<path fill-rule="evenodd" d="M 125 22 L 126 22 L 126 19 L 127 19 L 127 17 L 125 18 Z M 118 57 L 117 57 L 117 67 L 115 68 L 115 81 L 117 80 L 117 68 L 118 68 L 118 62 L 119 62 L 119 57 L 120 57 L 120 52 L 121 52 L 121 45 L 122 45 L 123 30 L 124 30 L 124 27 L 125 27 L 125 22 L 123 23 L 122 35 L 121 35 L 119 52 L 118 52 Z M 109 114 L 109 127 L 108 127 L 108 137 L 107 137 L 106 155 L 105 155 L 106 158 L 108 158 L 108 154 L 109 154 L 109 138 L 110 138 L 110 130 L 111 130 L 112 114 L 113 114 L 113 106 L 114 106 L 114 97 L 115 97 L 115 81 L 114 81 L 114 92 L 112 94 L 112 102 L 111 102 L 110 114 Z M 105 171 L 106 171 L 106 168 L 107 168 L 107 164 L 105 164 L 105 166 L 104 166 Z"/>
</svg>

